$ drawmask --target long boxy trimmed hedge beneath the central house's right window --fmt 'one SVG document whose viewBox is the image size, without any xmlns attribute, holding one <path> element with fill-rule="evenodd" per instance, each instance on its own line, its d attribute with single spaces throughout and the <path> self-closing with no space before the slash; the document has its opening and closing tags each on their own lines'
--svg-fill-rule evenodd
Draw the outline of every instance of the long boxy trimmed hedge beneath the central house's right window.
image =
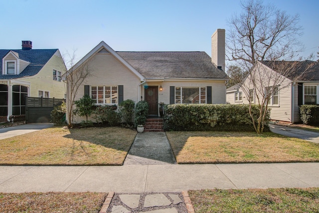
<svg viewBox="0 0 319 213">
<path fill-rule="evenodd" d="M 257 120 L 259 108 L 252 106 Z M 269 115 L 264 132 L 269 131 Z M 164 131 L 255 131 L 247 104 L 165 105 Z M 257 124 L 256 124 L 257 125 Z"/>
</svg>

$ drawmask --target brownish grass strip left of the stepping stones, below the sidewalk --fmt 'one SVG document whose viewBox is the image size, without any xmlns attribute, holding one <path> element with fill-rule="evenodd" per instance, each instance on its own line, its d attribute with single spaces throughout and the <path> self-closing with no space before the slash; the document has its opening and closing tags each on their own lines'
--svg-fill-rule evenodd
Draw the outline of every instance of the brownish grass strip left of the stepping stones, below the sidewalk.
<svg viewBox="0 0 319 213">
<path fill-rule="evenodd" d="M 99 213 L 106 193 L 0 193 L 1 213 Z"/>
</svg>

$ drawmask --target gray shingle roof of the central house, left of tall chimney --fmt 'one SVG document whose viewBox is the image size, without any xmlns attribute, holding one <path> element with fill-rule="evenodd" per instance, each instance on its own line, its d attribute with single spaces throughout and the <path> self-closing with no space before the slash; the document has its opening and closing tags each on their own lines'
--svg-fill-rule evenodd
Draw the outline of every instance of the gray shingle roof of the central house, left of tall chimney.
<svg viewBox="0 0 319 213">
<path fill-rule="evenodd" d="M 145 78 L 228 79 L 206 52 L 122 52 L 117 53 Z"/>
</svg>

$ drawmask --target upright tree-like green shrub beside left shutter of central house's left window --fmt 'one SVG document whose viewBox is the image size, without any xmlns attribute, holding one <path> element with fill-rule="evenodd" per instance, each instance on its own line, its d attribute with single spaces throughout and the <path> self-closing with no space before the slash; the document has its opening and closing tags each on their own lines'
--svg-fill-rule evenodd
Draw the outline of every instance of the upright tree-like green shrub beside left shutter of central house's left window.
<svg viewBox="0 0 319 213">
<path fill-rule="evenodd" d="M 94 111 L 94 100 L 89 95 L 84 95 L 81 99 L 74 101 L 74 104 L 74 114 L 79 116 L 85 116 L 86 122 L 88 122 L 88 117 L 92 115 Z"/>
</svg>

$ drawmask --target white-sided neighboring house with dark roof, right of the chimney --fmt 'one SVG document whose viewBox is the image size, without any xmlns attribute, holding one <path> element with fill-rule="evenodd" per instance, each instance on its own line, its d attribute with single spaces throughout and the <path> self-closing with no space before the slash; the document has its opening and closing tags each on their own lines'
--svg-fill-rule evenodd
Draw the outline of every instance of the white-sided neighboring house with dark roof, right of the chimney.
<svg viewBox="0 0 319 213">
<path fill-rule="evenodd" d="M 276 61 L 275 63 L 270 63 L 269 61 L 265 61 L 264 63 L 259 62 L 259 65 L 262 67 L 258 69 L 261 76 L 283 78 L 280 85 L 275 85 L 272 97 L 268 103 L 268 107 L 271 109 L 270 118 L 272 120 L 291 123 L 300 122 L 299 106 L 304 104 L 319 104 L 319 62 L 305 60 Z M 283 67 L 288 67 L 287 69 L 290 70 L 281 75 L 279 72 Z M 267 81 L 266 79 L 264 80 Z M 247 81 L 245 83 L 247 85 Z M 273 87 L 274 84 L 269 86 Z M 249 87 L 249 92 L 245 93 L 243 88 L 239 84 L 228 88 L 226 90 L 227 103 L 248 104 L 246 93 L 249 93 L 251 102 L 258 104 L 258 92 L 253 91 L 252 87 Z M 267 89 L 267 86 L 264 86 L 264 88 Z"/>
</svg>

